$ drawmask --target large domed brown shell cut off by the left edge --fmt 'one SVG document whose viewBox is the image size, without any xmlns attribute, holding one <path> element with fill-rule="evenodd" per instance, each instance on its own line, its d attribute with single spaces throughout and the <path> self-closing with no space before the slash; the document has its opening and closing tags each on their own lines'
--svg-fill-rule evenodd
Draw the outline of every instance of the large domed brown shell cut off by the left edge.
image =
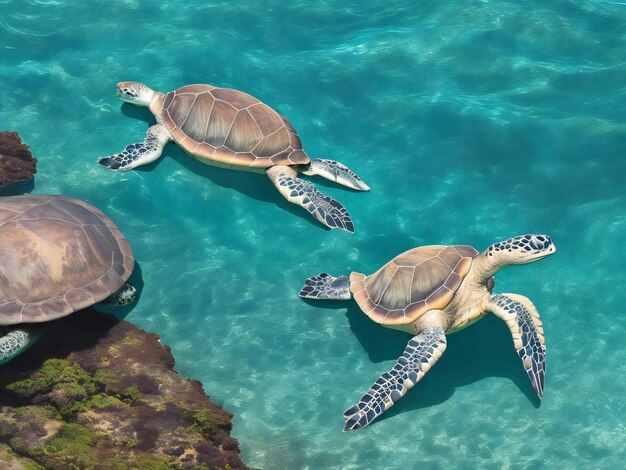
<svg viewBox="0 0 626 470">
<path fill-rule="evenodd" d="M 54 320 L 104 300 L 135 259 L 115 224 L 65 196 L 0 198 L 0 325 Z"/>
</svg>

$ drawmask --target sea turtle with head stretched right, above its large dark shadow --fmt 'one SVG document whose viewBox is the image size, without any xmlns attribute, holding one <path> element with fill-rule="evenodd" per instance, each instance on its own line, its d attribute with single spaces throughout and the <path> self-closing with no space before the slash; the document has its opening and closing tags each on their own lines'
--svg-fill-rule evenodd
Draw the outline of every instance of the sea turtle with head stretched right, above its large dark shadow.
<svg viewBox="0 0 626 470">
<path fill-rule="evenodd" d="M 510 264 L 537 261 L 556 251 L 547 235 L 521 235 L 482 253 L 471 246 L 422 246 L 403 253 L 374 274 L 310 277 L 308 299 L 352 297 L 373 321 L 413 336 L 394 367 L 344 412 L 344 431 L 362 428 L 393 406 L 441 357 L 446 334 L 488 312 L 503 319 L 539 399 L 545 377 L 545 342 L 537 309 L 517 294 L 492 295 L 494 274 Z"/>
</svg>

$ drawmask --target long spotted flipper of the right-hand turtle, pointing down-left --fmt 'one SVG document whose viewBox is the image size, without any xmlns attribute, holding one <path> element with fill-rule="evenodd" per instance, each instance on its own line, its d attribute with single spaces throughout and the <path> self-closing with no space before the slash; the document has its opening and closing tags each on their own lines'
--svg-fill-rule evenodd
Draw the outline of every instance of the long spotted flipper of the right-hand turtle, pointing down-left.
<svg viewBox="0 0 626 470">
<path fill-rule="evenodd" d="M 391 408 L 426 375 L 446 350 L 446 344 L 446 335 L 440 327 L 411 338 L 393 369 L 381 375 L 359 402 L 343 413 L 343 430 L 363 428 Z"/>
</svg>

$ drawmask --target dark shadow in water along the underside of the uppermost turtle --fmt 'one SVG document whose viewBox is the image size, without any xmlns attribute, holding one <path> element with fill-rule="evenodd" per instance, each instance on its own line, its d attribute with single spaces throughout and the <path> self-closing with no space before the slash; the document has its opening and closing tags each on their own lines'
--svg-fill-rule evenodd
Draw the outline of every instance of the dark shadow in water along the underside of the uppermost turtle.
<svg viewBox="0 0 626 470">
<path fill-rule="evenodd" d="M 122 114 L 131 118 L 140 120 L 146 123 L 146 125 L 152 126 L 156 123 L 156 120 L 148 108 L 133 106 L 128 103 L 123 103 L 121 108 Z M 137 136 L 137 141 L 141 139 L 141 136 Z M 190 172 L 209 180 L 212 184 L 216 184 L 222 188 L 233 189 L 240 194 L 247 197 L 251 197 L 261 202 L 268 202 L 278 206 L 280 209 L 289 212 L 291 215 L 295 215 L 307 223 L 315 226 L 316 228 L 322 228 L 323 230 L 330 231 L 331 229 L 320 224 L 315 219 L 312 219 L 307 212 L 303 212 L 302 208 L 295 206 L 287 201 L 279 192 L 277 192 L 272 183 L 267 177 L 262 174 L 248 172 L 228 170 L 225 168 L 217 168 L 204 163 L 199 162 L 191 155 L 187 154 L 175 143 L 166 145 L 163 150 L 163 155 L 156 161 L 147 165 L 139 166 L 130 171 L 137 172 L 150 172 L 152 171 L 163 158 L 172 158 L 181 166 L 185 167 Z M 306 176 L 305 176 L 306 178 Z M 345 192 L 358 192 L 353 189 L 334 184 L 326 181 L 324 178 L 314 178 L 316 186 L 323 186 L 329 188 L 333 192 L 338 190 L 339 193 Z M 340 195 L 338 196 L 341 197 Z"/>
</svg>

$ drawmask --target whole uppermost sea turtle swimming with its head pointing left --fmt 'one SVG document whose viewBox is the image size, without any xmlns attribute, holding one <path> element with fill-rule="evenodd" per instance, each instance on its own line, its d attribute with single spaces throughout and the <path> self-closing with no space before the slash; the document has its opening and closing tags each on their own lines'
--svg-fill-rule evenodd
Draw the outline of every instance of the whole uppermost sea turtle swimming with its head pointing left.
<svg viewBox="0 0 626 470">
<path fill-rule="evenodd" d="M 287 119 L 256 98 L 212 85 L 187 85 L 163 94 L 137 82 L 118 83 L 117 96 L 147 106 L 157 123 L 143 142 L 101 158 L 101 166 L 130 170 L 145 165 L 174 141 L 207 165 L 265 173 L 289 202 L 304 207 L 329 228 L 354 232 L 343 205 L 296 175 L 320 175 L 359 191 L 369 187 L 341 163 L 310 159 Z"/>
</svg>

